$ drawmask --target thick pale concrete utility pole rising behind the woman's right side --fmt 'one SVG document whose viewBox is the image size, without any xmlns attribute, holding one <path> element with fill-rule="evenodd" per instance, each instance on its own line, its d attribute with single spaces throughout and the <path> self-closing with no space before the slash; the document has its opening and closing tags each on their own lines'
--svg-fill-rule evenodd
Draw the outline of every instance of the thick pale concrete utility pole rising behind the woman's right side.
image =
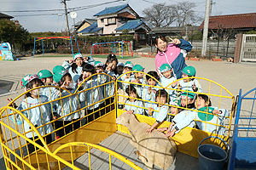
<svg viewBox="0 0 256 170">
<path fill-rule="evenodd" d="M 204 21 L 204 31 L 203 31 L 203 41 L 201 48 L 201 56 L 204 57 L 207 54 L 207 37 L 208 37 L 208 27 L 209 27 L 209 11 L 210 11 L 210 0 L 207 0 L 206 14 Z"/>
</svg>

